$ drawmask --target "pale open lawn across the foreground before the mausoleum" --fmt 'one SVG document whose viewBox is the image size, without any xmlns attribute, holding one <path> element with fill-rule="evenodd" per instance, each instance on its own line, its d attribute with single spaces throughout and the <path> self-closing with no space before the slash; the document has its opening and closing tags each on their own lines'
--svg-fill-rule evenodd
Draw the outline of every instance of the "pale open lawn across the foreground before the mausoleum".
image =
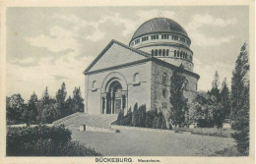
<svg viewBox="0 0 256 164">
<path fill-rule="evenodd" d="M 136 130 L 121 130 L 117 134 L 73 130 L 72 138 L 104 156 L 209 156 L 235 145 L 230 137 Z"/>
</svg>

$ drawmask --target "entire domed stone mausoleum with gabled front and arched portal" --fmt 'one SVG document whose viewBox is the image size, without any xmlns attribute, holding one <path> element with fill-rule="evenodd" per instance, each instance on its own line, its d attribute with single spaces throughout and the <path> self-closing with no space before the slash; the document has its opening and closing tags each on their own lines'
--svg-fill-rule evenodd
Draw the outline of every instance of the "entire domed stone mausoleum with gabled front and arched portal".
<svg viewBox="0 0 256 164">
<path fill-rule="evenodd" d="M 184 95 L 191 100 L 199 75 L 193 72 L 191 40 L 183 27 L 155 18 L 139 27 L 129 45 L 111 40 L 85 70 L 85 112 L 126 113 L 137 102 L 147 109 L 170 108 L 170 78 L 182 67 Z"/>
</svg>

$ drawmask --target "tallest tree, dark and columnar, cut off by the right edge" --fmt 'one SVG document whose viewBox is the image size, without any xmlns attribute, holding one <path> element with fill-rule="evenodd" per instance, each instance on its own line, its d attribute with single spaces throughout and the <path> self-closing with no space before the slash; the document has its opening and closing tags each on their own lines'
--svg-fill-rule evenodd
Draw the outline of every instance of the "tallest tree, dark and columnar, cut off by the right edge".
<svg viewBox="0 0 256 164">
<path fill-rule="evenodd" d="M 231 81 L 231 127 L 237 149 L 249 154 L 249 59 L 247 43 L 241 47 Z"/>
</svg>

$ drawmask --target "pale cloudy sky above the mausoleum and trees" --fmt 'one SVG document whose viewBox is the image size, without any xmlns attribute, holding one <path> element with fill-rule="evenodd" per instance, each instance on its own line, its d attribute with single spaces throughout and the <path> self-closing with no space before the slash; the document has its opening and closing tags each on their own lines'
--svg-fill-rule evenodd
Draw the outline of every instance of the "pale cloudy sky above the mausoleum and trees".
<svg viewBox="0 0 256 164">
<path fill-rule="evenodd" d="M 111 39 L 128 44 L 135 30 L 158 17 L 176 21 L 188 33 L 194 52 L 198 90 L 211 89 L 231 73 L 240 47 L 249 40 L 248 7 L 22 7 L 7 10 L 7 96 L 40 98 L 45 87 L 55 96 L 65 82 L 69 95 L 80 86 L 83 71 Z"/>
</svg>

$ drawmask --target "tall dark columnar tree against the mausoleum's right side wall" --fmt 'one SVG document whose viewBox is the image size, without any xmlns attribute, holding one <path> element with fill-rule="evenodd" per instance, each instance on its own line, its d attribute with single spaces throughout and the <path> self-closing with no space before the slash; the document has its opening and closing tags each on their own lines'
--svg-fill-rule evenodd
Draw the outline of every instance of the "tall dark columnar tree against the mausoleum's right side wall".
<svg viewBox="0 0 256 164">
<path fill-rule="evenodd" d="M 185 123 L 185 113 L 188 110 L 187 99 L 183 95 L 185 77 L 182 72 L 183 68 L 178 67 L 170 79 L 170 120 L 175 127 Z"/>
</svg>

